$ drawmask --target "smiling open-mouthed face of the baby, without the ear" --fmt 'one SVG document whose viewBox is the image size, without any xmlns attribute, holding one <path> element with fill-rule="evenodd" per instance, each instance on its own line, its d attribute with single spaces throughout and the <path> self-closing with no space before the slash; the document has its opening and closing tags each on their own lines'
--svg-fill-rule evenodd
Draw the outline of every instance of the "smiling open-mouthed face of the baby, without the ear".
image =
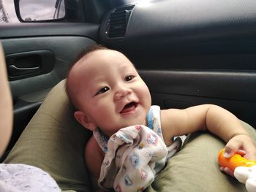
<svg viewBox="0 0 256 192">
<path fill-rule="evenodd" d="M 78 101 L 94 128 L 110 136 L 120 128 L 145 125 L 151 96 L 132 63 L 114 50 L 89 54 L 78 66 Z"/>
</svg>

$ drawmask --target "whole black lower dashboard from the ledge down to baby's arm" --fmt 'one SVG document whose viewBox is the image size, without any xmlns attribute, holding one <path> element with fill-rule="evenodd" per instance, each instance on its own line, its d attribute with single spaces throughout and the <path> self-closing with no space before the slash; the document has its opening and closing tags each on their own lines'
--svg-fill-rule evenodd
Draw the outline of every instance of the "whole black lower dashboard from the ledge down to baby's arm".
<svg viewBox="0 0 256 192">
<path fill-rule="evenodd" d="M 196 72 L 140 70 L 152 94 L 152 103 L 184 109 L 217 104 L 255 125 L 255 72 Z"/>
</svg>

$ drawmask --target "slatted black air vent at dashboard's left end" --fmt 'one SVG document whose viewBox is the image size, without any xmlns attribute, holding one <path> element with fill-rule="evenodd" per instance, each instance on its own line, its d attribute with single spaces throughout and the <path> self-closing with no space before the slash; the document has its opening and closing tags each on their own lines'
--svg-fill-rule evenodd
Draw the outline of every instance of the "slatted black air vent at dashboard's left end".
<svg viewBox="0 0 256 192">
<path fill-rule="evenodd" d="M 135 5 L 114 9 L 108 18 L 106 34 L 109 38 L 124 37 L 127 30 L 127 23 L 132 9 Z"/>
</svg>

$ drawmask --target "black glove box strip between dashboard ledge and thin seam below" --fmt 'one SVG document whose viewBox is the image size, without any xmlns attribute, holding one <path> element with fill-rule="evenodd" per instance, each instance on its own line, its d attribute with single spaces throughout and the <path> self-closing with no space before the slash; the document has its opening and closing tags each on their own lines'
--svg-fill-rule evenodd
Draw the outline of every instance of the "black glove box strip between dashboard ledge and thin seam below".
<svg viewBox="0 0 256 192">
<path fill-rule="evenodd" d="M 256 72 L 141 70 L 150 91 L 256 103 Z M 161 86 L 159 86 L 161 85 Z"/>
</svg>

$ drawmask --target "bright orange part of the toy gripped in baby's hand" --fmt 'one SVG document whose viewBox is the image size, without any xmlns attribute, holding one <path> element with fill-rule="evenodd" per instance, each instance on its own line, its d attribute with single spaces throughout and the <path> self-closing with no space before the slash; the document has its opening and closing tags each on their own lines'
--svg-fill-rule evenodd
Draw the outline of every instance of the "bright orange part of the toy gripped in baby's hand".
<svg viewBox="0 0 256 192">
<path fill-rule="evenodd" d="M 225 149 L 222 149 L 219 151 L 219 154 L 218 154 L 218 161 L 220 166 L 227 167 L 232 171 L 234 171 L 238 166 L 255 166 L 256 165 L 256 161 L 250 161 L 246 158 L 243 158 L 241 155 L 237 153 L 235 153 L 230 158 L 225 158 L 224 151 Z"/>
</svg>

